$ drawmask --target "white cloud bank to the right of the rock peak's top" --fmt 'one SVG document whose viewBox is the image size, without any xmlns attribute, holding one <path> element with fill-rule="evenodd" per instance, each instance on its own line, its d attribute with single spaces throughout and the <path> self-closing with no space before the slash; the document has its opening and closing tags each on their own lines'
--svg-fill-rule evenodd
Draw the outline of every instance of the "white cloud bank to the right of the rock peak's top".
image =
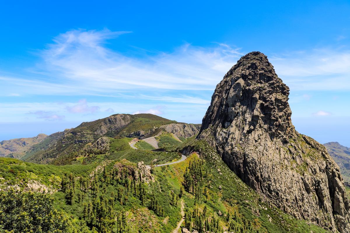
<svg viewBox="0 0 350 233">
<path fill-rule="evenodd" d="M 350 90 L 349 50 L 313 49 L 271 57 L 269 61 L 291 90 Z"/>
</svg>

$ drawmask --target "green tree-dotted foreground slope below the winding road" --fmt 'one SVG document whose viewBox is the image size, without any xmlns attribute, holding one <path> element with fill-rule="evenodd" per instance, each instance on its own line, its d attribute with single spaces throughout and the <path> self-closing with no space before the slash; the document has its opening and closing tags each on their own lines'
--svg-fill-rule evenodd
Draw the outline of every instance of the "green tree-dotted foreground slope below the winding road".
<svg viewBox="0 0 350 233">
<path fill-rule="evenodd" d="M 153 167 L 152 182 L 145 174 L 141 179 L 135 163 L 152 162 L 156 156 L 178 159 L 179 153 L 130 150 L 129 141 L 113 139 L 108 153 L 78 158 L 88 165 L 38 165 L 4 158 L 2 187 L 19 184 L 16 177 L 54 183 L 53 205 L 67 217 L 69 232 L 172 232 L 181 219 L 182 203 L 182 226 L 190 231 L 325 232 L 264 203 L 207 143 L 191 138 L 177 145 L 198 153 L 178 164 Z M 12 182 L 4 186 L 7 180 Z"/>
</svg>

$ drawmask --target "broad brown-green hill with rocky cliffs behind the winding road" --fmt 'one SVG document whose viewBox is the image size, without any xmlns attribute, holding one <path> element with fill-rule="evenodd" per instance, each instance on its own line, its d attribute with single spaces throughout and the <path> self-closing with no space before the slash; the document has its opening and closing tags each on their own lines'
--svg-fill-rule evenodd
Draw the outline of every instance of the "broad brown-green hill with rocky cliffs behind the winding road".
<svg viewBox="0 0 350 233">
<path fill-rule="evenodd" d="M 177 123 L 153 114 L 115 114 L 54 133 L 31 147 L 22 160 L 42 164 L 69 164 L 76 157 L 90 152 L 91 146 L 111 142 L 98 141 L 102 137 L 143 139 L 161 131 L 173 133 L 180 138 L 192 137 L 198 133 L 194 125 Z"/>
</svg>

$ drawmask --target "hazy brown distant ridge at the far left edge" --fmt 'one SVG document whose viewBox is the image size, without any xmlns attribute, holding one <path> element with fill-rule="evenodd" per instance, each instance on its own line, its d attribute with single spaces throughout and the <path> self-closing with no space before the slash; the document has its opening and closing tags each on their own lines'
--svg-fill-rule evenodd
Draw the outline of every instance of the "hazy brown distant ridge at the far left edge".
<svg viewBox="0 0 350 233">
<path fill-rule="evenodd" d="M 0 157 L 22 158 L 26 151 L 42 142 L 47 135 L 40 133 L 36 137 L 16 138 L 0 142 Z"/>
</svg>

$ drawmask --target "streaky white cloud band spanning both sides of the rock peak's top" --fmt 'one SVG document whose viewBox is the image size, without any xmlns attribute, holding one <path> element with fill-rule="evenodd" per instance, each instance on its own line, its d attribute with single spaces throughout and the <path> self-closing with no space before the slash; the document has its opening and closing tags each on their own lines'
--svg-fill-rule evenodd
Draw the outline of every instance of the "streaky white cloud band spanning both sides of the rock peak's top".
<svg viewBox="0 0 350 233">
<path fill-rule="evenodd" d="M 246 53 L 224 43 L 206 48 L 185 43 L 172 53 L 135 58 L 105 45 L 107 40 L 127 33 L 130 32 L 104 29 L 60 34 L 41 52 L 42 61 L 31 69 L 31 74 L 0 77 L 5 84 L 0 93 L 10 95 L 9 86 L 22 95 L 116 95 L 121 91 L 136 95 L 155 89 L 212 91 Z M 276 73 L 293 90 L 350 90 L 348 50 L 313 49 L 268 57 Z"/>
</svg>

